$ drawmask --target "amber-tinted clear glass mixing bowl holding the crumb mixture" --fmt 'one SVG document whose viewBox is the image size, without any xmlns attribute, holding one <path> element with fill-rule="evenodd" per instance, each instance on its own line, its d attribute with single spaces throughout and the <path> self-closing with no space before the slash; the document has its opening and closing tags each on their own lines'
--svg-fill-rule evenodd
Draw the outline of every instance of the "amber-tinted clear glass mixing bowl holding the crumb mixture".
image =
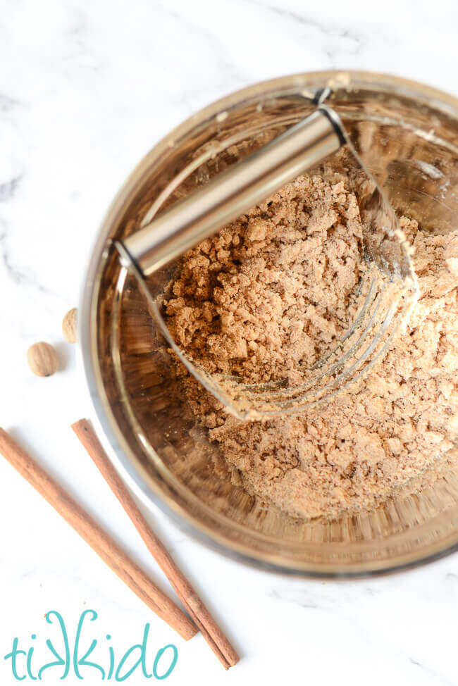
<svg viewBox="0 0 458 686">
<path fill-rule="evenodd" d="M 144 504 L 159 506 L 200 541 L 261 568 L 352 577 L 414 566 L 458 548 L 457 470 L 419 494 L 332 523 L 292 519 L 232 485 L 214 470 L 218 449 L 195 424 L 167 345 L 110 244 L 137 230 L 147 213 L 233 163 L 235 149 L 249 154 L 307 116 L 326 89 L 328 104 L 395 209 L 418 219 L 423 230 L 454 229 L 457 99 L 371 73 L 283 77 L 205 108 L 137 166 L 94 246 L 79 327 L 87 383 L 113 462 Z M 161 287 L 174 268 L 155 275 L 151 285 Z"/>
</svg>

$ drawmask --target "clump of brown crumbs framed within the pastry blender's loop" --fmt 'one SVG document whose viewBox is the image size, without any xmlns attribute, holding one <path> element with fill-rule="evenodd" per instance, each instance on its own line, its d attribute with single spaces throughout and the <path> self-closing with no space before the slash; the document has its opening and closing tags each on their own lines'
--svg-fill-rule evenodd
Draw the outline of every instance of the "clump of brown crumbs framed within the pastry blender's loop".
<svg viewBox="0 0 458 686">
<path fill-rule="evenodd" d="M 342 182 L 299 177 L 187 254 L 168 328 L 209 373 L 293 380 L 352 321 L 361 242 Z"/>
</svg>

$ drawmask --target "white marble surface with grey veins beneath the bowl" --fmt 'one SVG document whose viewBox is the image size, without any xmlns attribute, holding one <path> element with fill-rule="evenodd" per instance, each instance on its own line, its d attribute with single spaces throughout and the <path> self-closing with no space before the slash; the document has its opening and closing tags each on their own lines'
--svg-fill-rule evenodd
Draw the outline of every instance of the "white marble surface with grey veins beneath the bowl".
<svg viewBox="0 0 458 686">
<path fill-rule="evenodd" d="M 89 406 L 61 318 L 77 303 L 106 206 L 171 127 L 258 80 L 348 67 L 457 94 L 458 6 L 1 0 L 0 9 L 0 423 L 162 583 L 69 428 Z M 25 363 L 39 339 L 57 344 L 65 361 L 47 380 Z M 44 642 L 45 612 L 60 611 L 74 630 L 89 608 L 99 613 L 94 637 L 109 632 L 116 650 L 140 640 L 147 621 L 151 647 L 175 641 L 168 682 L 177 685 L 458 682 L 457 555 L 377 580 L 290 580 L 223 559 L 158 515 L 178 561 L 240 649 L 242 661 L 225 674 L 202 637 L 175 640 L 4 461 L 0 494 L 2 685 L 15 682 L 3 659 L 13 637 L 28 646 L 35 631 Z M 44 681 L 57 683 L 56 674 Z"/>
</svg>

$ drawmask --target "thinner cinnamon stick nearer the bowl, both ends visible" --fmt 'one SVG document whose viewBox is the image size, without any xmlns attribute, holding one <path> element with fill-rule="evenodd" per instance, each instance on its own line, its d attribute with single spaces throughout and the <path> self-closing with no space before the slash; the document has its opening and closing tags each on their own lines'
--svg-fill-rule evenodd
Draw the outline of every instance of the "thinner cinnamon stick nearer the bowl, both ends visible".
<svg viewBox="0 0 458 686">
<path fill-rule="evenodd" d="M 199 598 L 192 585 L 190 585 L 190 582 L 175 564 L 162 542 L 149 528 L 147 521 L 125 487 L 123 480 L 120 479 L 116 469 L 109 460 L 92 426 L 87 420 L 82 419 L 73 424 L 72 428 L 132 520 L 151 555 L 171 582 L 175 593 L 190 614 L 194 624 L 201 630 L 206 642 L 226 669 L 235 665 L 239 660 L 235 649 L 218 627 L 203 601 Z"/>
</svg>

